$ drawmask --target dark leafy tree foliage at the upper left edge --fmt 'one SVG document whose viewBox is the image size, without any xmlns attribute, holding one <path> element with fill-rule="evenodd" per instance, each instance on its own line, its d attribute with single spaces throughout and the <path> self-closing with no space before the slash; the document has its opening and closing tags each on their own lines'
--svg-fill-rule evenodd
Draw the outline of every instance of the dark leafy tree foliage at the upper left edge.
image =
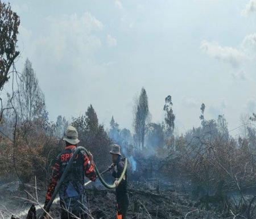
<svg viewBox="0 0 256 219">
<path fill-rule="evenodd" d="M 10 3 L 0 1 L 0 90 L 9 80 L 9 70 L 19 55 L 18 41 L 19 16 L 11 10 Z"/>
</svg>

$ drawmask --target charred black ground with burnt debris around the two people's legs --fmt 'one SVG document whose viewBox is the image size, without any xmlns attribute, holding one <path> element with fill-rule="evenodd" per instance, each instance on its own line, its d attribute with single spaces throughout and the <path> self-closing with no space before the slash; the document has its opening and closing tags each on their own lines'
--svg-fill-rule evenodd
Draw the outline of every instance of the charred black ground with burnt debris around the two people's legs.
<svg viewBox="0 0 256 219">
<path fill-rule="evenodd" d="M 13 200 L 16 201 L 16 205 L 18 206 L 22 201 L 24 203 L 24 200 L 19 200 L 15 196 L 17 192 L 8 192 L 8 195 L 12 195 Z M 40 201 L 36 200 L 35 191 L 30 192 L 30 203 L 38 204 Z M 42 191 L 38 189 L 39 197 L 41 193 Z M 7 195 L 7 192 L 2 191 L 1 195 L 3 194 Z M 34 194 L 34 197 L 32 194 Z M 90 187 L 87 190 L 87 195 L 89 212 L 92 218 L 108 219 L 114 217 L 115 194 L 113 190 Z M 152 189 L 129 188 L 129 196 L 130 207 L 127 214 L 128 218 L 218 218 L 218 214 L 216 213 L 193 207 L 193 202 L 188 199 L 187 195 L 184 196 L 175 191 L 163 190 L 157 192 Z M 26 205 L 27 210 L 29 206 Z M 0 211 L 5 216 L 13 214 L 12 210 L 3 207 L 1 207 Z M 59 216 L 58 211 L 59 203 L 53 204 L 50 212 L 51 218 L 57 218 Z M 42 213 L 42 209 L 39 208 L 36 214 L 39 216 L 40 213 Z M 19 217 L 24 218 L 26 215 L 20 215 Z"/>
</svg>

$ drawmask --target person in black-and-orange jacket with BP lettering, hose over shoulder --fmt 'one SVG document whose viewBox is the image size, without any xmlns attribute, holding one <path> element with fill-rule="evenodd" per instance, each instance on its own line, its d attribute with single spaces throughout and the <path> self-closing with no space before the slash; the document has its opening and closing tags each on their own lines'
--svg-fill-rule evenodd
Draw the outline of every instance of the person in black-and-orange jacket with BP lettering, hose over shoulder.
<svg viewBox="0 0 256 219">
<path fill-rule="evenodd" d="M 68 165 L 68 161 L 72 157 L 77 144 L 80 142 L 76 128 L 70 125 L 65 131 L 63 140 L 66 144 L 65 150 L 57 156 L 55 165 L 52 167 L 53 173 L 47 189 L 44 208 L 46 208 L 49 200 L 51 200 L 56 184 Z M 68 172 L 59 190 L 61 219 L 88 218 L 84 176 L 92 181 L 96 180 L 93 156 L 90 155 L 88 157 L 84 151 L 81 151 L 74 159 L 71 170 Z"/>
</svg>

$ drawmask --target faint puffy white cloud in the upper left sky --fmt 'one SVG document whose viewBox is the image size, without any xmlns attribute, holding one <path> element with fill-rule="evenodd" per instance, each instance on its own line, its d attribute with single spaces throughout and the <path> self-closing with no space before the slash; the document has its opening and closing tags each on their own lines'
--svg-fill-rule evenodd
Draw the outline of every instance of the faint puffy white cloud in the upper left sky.
<svg viewBox="0 0 256 219">
<path fill-rule="evenodd" d="M 35 49 L 55 61 L 70 60 L 77 65 L 82 58 L 92 56 L 101 47 L 101 40 L 93 33 L 104 27 L 89 12 L 81 16 L 64 15 L 61 18 L 49 16 L 47 31 L 35 41 Z"/>
</svg>

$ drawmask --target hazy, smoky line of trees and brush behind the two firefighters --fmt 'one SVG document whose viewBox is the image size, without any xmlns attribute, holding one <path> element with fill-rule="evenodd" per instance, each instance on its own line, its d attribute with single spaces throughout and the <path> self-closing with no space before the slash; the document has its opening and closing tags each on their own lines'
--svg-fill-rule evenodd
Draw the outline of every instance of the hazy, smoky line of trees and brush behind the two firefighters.
<svg viewBox="0 0 256 219">
<path fill-rule="evenodd" d="M 23 182 L 30 182 L 36 176 L 47 183 L 50 167 L 64 148 L 61 140 L 64 130 L 72 124 L 79 132 L 81 145 L 94 154 L 100 169 L 109 165 L 106 154 L 109 153 L 109 145 L 115 142 L 129 157 L 132 169 L 139 172 L 138 180 L 157 159 L 155 171 L 158 176 L 162 174 L 168 179 L 180 179 L 180 183 L 185 179 L 196 187 L 196 196 L 207 194 L 199 204 L 209 207 L 211 200 L 220 201 L 210 197 L 214 191 L 222 197 L 219 207 L 223 212 L 232 210 L 242 212 L 242 215 L 250 214 L 251 202 L 245 199 L 244 192 L 255 189 L 255 113 L 241 117 L 241 132 L 234 138 L 225 116 L 208 119 L 205 116 L 207 106 L 202 103 L 197 115 L 200 126 L 174 134 L 176 115 L 172 110 L 172 96 L 160 97 L 163 98 L 164 120 L 154 123 L 147 92 L 142 87 L 132 111 L 133 130 L 120 128 L 114 116 L 110 120 L 110 128 L 106 129 L 99 123 L 90 104 L 81 116 L 72 117 L 72 121 L 62 115 L 57 116 L 54 122 L 49 121 L 44 94 L 31 62 L 26 60 L 22 73 L 15 68 L 15 58 L 19 55 L 16 46 L 19 16 L 10 5 L 0 2 L 0 21 L 0 90 L 10 78 L 13 84 L 12 92 L 6 97 L 6 106 L 0 97 L 1 180 L 13 180 L 18 176 Z M 138 164 L 141 165 L 139 168 Z M 224 193 L 228 191 L 240 192 L 238 204 L 223 204 Z"/>
</svg>

